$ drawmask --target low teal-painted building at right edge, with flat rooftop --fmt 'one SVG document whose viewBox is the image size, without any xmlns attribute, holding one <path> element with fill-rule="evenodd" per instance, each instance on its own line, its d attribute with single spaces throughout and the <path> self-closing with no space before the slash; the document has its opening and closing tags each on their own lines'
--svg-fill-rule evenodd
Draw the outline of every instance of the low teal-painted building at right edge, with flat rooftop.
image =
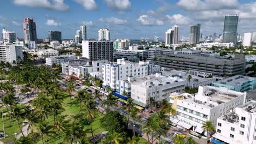
<svg viewBox="0 0 256 144">
<path fill-rule="evenodd" d="M 256 88 L 256 77 L 236 75 L 213 82 L 214 87 L 227 87 L 237 92 L 251 92 Z"/>
</svg>

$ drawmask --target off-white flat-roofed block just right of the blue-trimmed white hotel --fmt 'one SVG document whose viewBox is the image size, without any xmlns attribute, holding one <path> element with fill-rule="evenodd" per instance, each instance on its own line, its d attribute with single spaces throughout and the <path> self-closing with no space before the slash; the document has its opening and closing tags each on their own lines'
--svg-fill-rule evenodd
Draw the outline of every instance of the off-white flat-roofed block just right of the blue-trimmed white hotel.
<svg viewBox="0 0 256 144">
<path fill-rule="evenodd" d="M 168 99 L 168 95 L 173 92 L 181 92 L 185 88 L 185 80 L 178 76 L 168 75 L 148 75 L 141 79 L 131 80 L 131 98 L 138 105 L 145 107 L 150 98 L 155 101 Z"/>
</svg>

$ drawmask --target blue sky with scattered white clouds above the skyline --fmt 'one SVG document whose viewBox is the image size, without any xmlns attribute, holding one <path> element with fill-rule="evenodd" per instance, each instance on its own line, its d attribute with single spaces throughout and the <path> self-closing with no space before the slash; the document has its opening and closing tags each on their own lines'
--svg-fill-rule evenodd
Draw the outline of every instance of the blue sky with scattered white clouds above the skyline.
<svg viewBox="0 0 256 144">
<path fill-rule="evenodd" d="M 4 0 L 0 27 L 23 38 L 22 21 L 31 17 L 38 38 L 56 30 L 62 31 L 62 38 L 73 39 L 85 24 L 88 38 L 97 38 L 98 29 L 106 27 L 111 39 L 164 39 L 173 25 L 188 37 L 195 23 L 201 23 L 203 35 L 220 34 L 225 14 L 239 14 L 238 33 L 256 31 L 256 2 L 249 0 Z"/>
</svg>

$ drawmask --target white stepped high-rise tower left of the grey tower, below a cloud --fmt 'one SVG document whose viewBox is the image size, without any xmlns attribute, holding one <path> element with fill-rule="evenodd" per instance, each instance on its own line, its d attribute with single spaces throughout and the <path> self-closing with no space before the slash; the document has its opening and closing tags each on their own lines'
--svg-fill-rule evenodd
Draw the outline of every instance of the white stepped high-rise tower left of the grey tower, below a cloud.
<svg viewBox="0 0 256 144">
<path fill-rule="evenodd" d="M 165 32 L 165 44 L 178 44 L 179 26 L 173 26 Z"/>
</svg>

